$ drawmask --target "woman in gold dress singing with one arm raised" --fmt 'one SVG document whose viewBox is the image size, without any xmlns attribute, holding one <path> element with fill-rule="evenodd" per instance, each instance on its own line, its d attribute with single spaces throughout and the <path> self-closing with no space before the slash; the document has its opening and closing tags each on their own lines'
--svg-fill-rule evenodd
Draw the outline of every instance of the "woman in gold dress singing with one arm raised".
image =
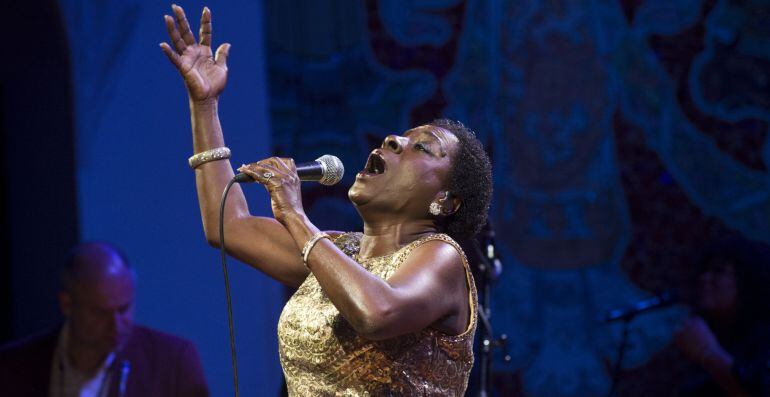
<svg viewBox="0 0 770 397">
<path fill-rule="evenodd" d="M 184 78 L 198 201 L 218 245 L 219 200 L 233 178 L 217 115 L 229 44 L 212 56 L 211 12 L 199 41 L 184 11 L 165 16 L 161 48 Z M 270 193 L 273 218 L 249 214 L 239 186 L 225 209 L 226 250 L 297 288 L 281 313 L 291 395 L 461 396 L 473 365 L 476 291 L 462 250 L 486 220 L 489 159 L 473 132 L 437 120 L 389 135 L 348 192 L 363 233 L 321 232 L 302 207 L 294 161 L 241 166 Z"/>
</svg>

